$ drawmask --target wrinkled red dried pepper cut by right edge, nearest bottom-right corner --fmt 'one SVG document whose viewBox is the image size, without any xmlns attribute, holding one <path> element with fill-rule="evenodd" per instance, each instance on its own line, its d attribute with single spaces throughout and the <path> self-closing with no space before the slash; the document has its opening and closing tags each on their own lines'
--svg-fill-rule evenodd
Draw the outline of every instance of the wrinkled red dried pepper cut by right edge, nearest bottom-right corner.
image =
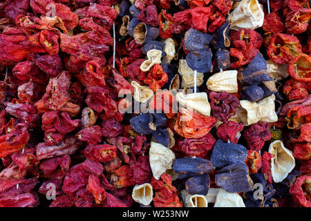
<svg viewBox="0 0 311 221">
<path fill-rule="evenodd" d="M 310 184 L 311 175 L 301 175 L 290 187 L 290 194 L 292 195 L 294 200 L 303 207 L 311 207 Z M 303 189 L 303 186 L 305 186 L 306 190 Z"/>
</svg>

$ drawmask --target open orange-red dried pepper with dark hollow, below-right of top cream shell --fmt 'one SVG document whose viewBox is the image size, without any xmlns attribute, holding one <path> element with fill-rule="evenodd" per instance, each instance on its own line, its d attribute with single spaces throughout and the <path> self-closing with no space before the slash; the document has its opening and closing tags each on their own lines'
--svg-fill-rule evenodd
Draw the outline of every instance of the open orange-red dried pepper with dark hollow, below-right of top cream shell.
<svg viewBox="0 0 311 221">
<path fill-rule="evenodd" d="M 276 33 L 267 48 L 267 55 L 277 64 L 286 64 L 301 53 L 301 44 L 293 35 Z"/>
</svg>

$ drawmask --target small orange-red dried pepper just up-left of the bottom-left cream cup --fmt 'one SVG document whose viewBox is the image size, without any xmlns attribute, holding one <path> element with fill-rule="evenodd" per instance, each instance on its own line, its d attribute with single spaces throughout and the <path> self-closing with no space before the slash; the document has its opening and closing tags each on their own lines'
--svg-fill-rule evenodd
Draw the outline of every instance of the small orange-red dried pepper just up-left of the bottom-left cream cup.
<svg viewBox="0 0 311 221">
<path fill-rule="evenodd" d="M 135 184 L 133 177 L 129 175 L 129 166 L 120 166 L 111 174 L 111 182 L 115 188 L 122 188 L 126 186 L 133 186 Z"/>
</svg>

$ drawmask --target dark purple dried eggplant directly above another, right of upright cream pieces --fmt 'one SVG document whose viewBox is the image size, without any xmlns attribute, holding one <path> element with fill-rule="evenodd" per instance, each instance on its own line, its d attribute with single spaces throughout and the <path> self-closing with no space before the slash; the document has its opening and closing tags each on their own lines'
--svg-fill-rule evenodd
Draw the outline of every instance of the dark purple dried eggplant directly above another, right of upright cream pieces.
<svg viewBox="0 0 311 221">
<path fill-rule="evenodd" d="M 194 28 L 190 28 L 185 33 L 184 46 L 186 50 L 195 51 L 209 48 L 209 42 L 213 37 L 207 33 L 200 32 Z"/>
</svg>

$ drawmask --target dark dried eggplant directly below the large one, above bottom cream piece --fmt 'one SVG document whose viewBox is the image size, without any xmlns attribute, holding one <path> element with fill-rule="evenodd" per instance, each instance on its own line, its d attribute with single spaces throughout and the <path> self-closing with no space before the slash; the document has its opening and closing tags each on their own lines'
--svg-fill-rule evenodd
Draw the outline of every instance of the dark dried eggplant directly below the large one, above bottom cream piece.
<svg viewBox="0 0 311 221">
<path fill-rule="evenodd" d="M 252 191 L 253 186 L 244 162 L 230 164 L 220 169 L 215 175 L 215 183 L 229 193 Z"/>
</svg>

